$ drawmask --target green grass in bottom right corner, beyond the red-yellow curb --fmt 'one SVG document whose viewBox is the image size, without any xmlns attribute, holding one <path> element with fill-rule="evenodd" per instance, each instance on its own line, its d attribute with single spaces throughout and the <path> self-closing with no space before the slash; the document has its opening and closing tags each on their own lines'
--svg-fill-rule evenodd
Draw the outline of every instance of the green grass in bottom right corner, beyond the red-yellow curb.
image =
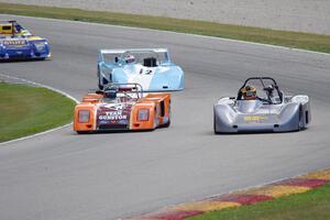
<svg viewBox="0 0 330 220">
<path fill-rule="evenodd" d="M 189 220 L 326 220 L 330 219 L 330 185 L 305 194 L 251 206 L 213 211 Z"/>
</svg>

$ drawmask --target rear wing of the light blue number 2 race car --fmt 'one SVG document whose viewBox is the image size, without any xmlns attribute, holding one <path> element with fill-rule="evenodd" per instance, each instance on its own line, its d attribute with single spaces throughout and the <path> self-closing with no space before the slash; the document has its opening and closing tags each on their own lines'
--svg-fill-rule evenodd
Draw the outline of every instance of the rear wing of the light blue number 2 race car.
<svg viewBox="0 0 330 220">
<path fill-rule="evenodd" d="M 124 58 L 129 55 L 133 55 L 138 61 L 155 56 L 160 63 L 170 63 L 167 48 L 100 50 L 99 62 L 124 64 Z"/>
</svg>

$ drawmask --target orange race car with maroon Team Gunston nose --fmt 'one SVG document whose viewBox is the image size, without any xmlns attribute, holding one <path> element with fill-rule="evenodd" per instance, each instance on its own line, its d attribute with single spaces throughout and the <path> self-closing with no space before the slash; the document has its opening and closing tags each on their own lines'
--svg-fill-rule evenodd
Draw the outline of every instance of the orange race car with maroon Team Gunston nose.
<svg viewBox="0 0 330 220">
<path fill-rule="evenodd" d="M 169 127 L 170 94 L 144 95 L 139 84 L 110 84 L 75 108 L 77 133 Z"/>
</svg>

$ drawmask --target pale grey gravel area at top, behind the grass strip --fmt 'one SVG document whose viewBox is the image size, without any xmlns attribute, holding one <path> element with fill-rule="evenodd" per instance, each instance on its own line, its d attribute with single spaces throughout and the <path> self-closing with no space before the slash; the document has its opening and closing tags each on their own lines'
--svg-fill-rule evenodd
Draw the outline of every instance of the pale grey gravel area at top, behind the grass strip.
<svg viewBox="0 0 330 220">
<path fill-rule="evenodd" d="M 330 35 L 329 0 L 0 0 Z"/>
</svg>

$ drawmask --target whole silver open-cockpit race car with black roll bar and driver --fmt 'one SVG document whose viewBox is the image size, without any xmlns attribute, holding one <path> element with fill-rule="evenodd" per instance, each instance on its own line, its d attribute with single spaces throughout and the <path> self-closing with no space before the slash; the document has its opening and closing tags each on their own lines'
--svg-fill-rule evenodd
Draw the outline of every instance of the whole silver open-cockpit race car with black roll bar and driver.
<svg viewBox="0 0 330 220">
<path fill-rule="evenodd" d="M 311 120 L 309 97 L 285 96 L 271 77 L 251 77 L 238 97 L 221 98 L 213 107 L 215 133 L 288 132 Z"/>
</svg>

